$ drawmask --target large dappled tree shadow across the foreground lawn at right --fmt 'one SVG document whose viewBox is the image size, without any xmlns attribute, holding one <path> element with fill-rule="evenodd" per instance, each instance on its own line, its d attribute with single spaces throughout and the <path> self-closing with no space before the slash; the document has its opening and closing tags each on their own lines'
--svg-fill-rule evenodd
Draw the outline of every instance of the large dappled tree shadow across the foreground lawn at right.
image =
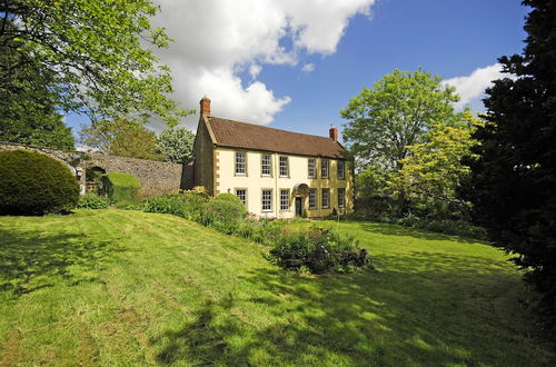
<svg viewBox="0 0 556 367">
<path fill-rule="evenodd" d="M 549 365 L 550 349 L 515 319 L 508 288 L 519 279 L 487 265 L 417 252 L 398 257 L 396 271 L 309 278 L 257 269 L 240 277 L 256 297 L 207 301 L 152 343 L 163 364 Z"/>
</svg>

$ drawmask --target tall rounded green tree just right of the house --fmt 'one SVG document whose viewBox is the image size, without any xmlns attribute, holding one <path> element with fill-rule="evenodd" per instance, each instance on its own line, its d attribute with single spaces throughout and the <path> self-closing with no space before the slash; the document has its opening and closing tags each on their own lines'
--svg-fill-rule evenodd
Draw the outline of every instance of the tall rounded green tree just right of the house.
<svg viewBox="0 0 556 367">
<path fill-rule="evenodd" d="M 407 147 L 424 142 L 433 123 L 456 120 L 451 102 L 458 97 L 454 91 L 440 83 L 440 77 L 421 69 L 396 69 L 374 89 L 364 88 L 340 111 L 347 120 L 344 138 L 364 166 L 399 169 L 409 153 Z"/>
</svg>

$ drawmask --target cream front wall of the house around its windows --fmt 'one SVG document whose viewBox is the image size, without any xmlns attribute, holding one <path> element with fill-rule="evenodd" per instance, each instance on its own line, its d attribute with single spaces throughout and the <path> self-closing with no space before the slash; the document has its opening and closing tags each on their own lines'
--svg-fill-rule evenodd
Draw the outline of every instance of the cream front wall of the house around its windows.
<svg viewBox="0 0 556 367">
<path fill-rule="evenodd" d="M 246 152 L 247 175 L 237 176 L 235 172 L 236 151 Z M 272 175 L 264 177 L 261 175 L 261 156 L 268 153 L 271 156 Z M 279 177 L 279 157 L 288 157 L 289 177 Z M 317 159 L 317 179 L 308 178 L 308 159 Z M 276 152 L 246 151 L 241 149 L 227 149 L 217 147 L 215 150 L 215 194 L 230 192 L 236 194 L 236 189 L 247 190 L 247 209 L 250 214 L 268 218 L 294 218 L 295 197 L 294 187 L 297 184 L 306 184 L 309 188 L 317 189 L 317 209 L 309 209 L 308 196 L 302 197 L 302 209 L 307 210 L 309 218 L 325 217 L 336 208 L 338 212 L 349 212 L 354 208 L 354 179 L 351 161 L 345 163 L 345 179 L 338 179 L 337 160 L 329 159 L 329 178 L 320 178 L 320 161 L 318 157 L 302 157 L 281 155 Z M 321 208 L 321 189 L 330 189 L 329 208 Z M 338 208 L 338 188 L 346 189 L 345 208 Z M 272 209 L 270 211 L 261 210 L 262 190 L 272 190 Z M 289 209 L 280 210 L 280 189 L 289 189 Z M 298 196 L 301 197 L 301 196 Z"/>
</svg>

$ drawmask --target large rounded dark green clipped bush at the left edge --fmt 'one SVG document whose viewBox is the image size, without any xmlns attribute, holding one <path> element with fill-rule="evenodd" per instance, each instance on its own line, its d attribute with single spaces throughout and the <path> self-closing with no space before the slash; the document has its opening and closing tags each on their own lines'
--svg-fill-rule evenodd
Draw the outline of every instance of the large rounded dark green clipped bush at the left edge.
<svg viewBox="0 0 556 367">
<path fill-rule="evenodd" d="M 79 184 L 68 167 L 29 151 L 0 152 L 0 215 L 43 215 L 73 209 Z"/>
</svg>

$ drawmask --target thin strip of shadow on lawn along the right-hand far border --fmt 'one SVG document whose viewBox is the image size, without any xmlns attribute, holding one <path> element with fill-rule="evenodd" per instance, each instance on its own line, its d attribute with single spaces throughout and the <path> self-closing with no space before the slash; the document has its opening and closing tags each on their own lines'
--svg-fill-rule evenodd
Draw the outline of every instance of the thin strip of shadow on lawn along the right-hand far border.
<svg viewBox="0 0 556 367">
<path fill-rule="evenodd" d="M 363 230 L 386 236 L 409 236 L 426 240 L 449 240 L 463 244 L 486 244 L 485 241 L 481 241 L 479 239 L 438 234 L 438 232 L 427 231 L 424 229 L 404 227 L 399 225 L 368 222 L 368 221 L 353 221 L 351 224 L 359 225 L 359 227 Z"/>
</svg>

